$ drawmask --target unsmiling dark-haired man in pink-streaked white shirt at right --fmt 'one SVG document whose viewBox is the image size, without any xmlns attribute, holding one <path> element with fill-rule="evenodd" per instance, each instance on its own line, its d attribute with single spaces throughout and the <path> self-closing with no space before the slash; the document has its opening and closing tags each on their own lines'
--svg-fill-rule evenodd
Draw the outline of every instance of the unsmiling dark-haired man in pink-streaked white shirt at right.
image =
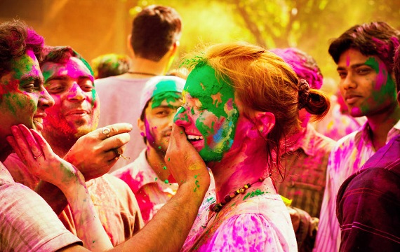
<svg viewBox="0 0 400 252">
<path fill-rule="evenodd" d="M 400 134 L 400 106 L 392 68 L 400 31 L 385 22 L 351 27 L 329 47 L 338 65 L 339 89 L 351 116 L 366 116 L 360 130 L 343 137 L 329 157 L 316 251 L 338 251 L 336 195 L 340 185 Z"/>
</svg>

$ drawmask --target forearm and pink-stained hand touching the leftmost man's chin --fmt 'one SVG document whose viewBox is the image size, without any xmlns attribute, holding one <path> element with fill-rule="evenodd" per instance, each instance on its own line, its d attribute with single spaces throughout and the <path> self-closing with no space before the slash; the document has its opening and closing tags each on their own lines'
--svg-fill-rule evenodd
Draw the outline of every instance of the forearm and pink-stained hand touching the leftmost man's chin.
<svg viewBox="0 0 400 252">
<path fill-rule="evenodd" d="M 29 172 L 58 186 L 72 209 L 76 233 L 91 251 L 112 248 L 111 241 L 99 221 L 84 176 L 73 165 L 55 155 L 51 147 L 35 130 L 25 125 L 11 127 L 13 137 L 7 141 L 27 165 Z"/>
</svg>

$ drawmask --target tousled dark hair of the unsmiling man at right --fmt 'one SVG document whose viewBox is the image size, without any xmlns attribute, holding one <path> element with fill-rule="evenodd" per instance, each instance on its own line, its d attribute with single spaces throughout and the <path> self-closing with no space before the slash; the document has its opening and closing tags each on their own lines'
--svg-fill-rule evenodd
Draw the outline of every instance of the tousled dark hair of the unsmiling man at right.
<svg viewBox="0 0 400 252">
<path fill-rule="evenodd" d="M 400 31 L 386 22 L 371 22 L 354 25 L 345 33 L 335 38 L 329 46 L 329 54 L 336 64 L 345 50 L 354 48 L 363 55 L 379 57 L 386 65 L 389 73 L 393 69 L 394 51 L 399 46 Z"/>
</svg>

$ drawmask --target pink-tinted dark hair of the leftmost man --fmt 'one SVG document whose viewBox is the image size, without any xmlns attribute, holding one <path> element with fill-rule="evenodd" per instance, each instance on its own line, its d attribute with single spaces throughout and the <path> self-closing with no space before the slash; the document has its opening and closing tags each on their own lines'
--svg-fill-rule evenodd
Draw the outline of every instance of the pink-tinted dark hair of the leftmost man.
<svg viewBox="0 0 400 252">
<path fill-rule="evenodd" d="M 11 71 L 11 59 L 21 57 L 27 50 L 33 50 L 40 61 L 43 47 L 44 38 L 25 22 L 13 20 L 0 24 L 0 76 Z"/>
</svg>

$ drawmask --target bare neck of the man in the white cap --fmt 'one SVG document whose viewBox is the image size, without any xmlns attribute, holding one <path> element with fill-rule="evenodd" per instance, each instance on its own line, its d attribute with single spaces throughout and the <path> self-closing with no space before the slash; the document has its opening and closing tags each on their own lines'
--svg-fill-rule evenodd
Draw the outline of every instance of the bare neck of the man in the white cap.
<svg viewBox="0 0 400 252">
<path fill-rule="evenodd" d="M 171 172 L 168 171 L 166 167 L 166 162 L 164 161 L 165 155 L 156 151 L 151 146 L 147 146 L 146 150 L 146 159 L 149 163 L 150 167 L 152 167 L 153 171 L 159 176 L 161 181 L 165 181 L 168 179 L 170 183 L 175 183 L 175 179 L 171 175 Z"/>
</svg>

